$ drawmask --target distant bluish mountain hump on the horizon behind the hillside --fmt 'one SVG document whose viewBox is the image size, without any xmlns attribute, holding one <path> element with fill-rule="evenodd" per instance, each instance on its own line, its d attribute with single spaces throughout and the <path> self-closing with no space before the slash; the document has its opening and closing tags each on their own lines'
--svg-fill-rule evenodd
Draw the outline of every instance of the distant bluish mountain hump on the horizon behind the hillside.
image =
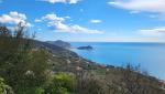
<svg viewBox="0 0 165 94">
<path fill-rule="evenodd" d="M 47 43 L 53 44 L 53 45 L 57 45 L 64 49 L 69 49 L 72 48 L 70 43 L 68 42 L 64 42 L 62 40 L 57 40 L 57 41 L 47 41 Z"/>
</svg>

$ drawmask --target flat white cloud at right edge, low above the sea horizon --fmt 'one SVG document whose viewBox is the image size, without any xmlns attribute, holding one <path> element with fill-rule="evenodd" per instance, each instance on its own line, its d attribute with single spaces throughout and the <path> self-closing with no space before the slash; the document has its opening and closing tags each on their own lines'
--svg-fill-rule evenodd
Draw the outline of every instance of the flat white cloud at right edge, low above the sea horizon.
<svg viewBox="0 0 165 94">
<path fill-rule="evenodd" d="M 150 36 L 163 36 L 165 35 L 165 27 L 158 27 L 154 29 L 144 29 L 139 30 L 141 35 L 150 35 Z"/>
</svg>

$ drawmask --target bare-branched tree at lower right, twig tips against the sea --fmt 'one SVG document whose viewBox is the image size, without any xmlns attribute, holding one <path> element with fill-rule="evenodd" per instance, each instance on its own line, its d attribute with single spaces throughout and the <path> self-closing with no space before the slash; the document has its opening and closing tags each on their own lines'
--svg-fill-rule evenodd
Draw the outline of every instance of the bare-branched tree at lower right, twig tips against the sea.
<svg viewBox="0 0 165 94">
<path fill-rule="evenodd" d="M 145 75 L 145 77 L 147 77 Z M 120 85 L 122 94 L 148 94 L 147 83 L 144 75 L 141 73 L 140 66 L 128 64 L 125 69 L 121 69 Z"/>
</svg>

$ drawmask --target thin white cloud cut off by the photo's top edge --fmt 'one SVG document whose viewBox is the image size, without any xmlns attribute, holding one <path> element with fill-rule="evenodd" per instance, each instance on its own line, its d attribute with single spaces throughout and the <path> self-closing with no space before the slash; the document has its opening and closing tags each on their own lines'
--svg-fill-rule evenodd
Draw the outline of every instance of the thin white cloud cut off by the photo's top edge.
<svg viewBox="0 0 165 94">
<path fill-rule="evenodd" d="M 46 1 L 46 2 L 50 2 L 50 3 L 59 3 L 61 2 L 61 3 L 75 4 L 80 0 L 40 0 L 40 1 Z"/>
</svg>

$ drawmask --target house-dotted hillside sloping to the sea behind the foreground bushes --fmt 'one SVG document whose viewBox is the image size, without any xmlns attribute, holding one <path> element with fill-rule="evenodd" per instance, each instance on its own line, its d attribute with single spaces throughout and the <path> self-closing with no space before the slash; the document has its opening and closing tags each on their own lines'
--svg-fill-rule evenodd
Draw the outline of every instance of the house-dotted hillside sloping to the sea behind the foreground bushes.
<svg viewBox="0 0 165 94">
<path fill-rule="evenodd" d="M 133 90 L 140 88 L 144 92 L 143 94 L 165 94 L 165 91 L 161 88 L 162 83 L 160 83 L 160 80 L 139 72 L 139 70 L 131 70 L 131 66 L 130 70 L 128 70 L 112 65 L 101 65 L 82 59 L 73 51 L 45 42 L 36 41 L 35 45 L 37 45 L 37 48 L 44 48 L 51 53 L 50 61 L 54 72 L 72 73 L 77 75 L 77 77 L 86 77 L 89 81 L 90 79 L 96 80 L 101 85 L 103 94 L 120 94 L 125 92 L 127 86 L 129 86 L 128 88 L 132 92 Z M 86 83 L 86 81 L 84 83 Z M 84 90 L 86 90 L 86 87 L 84 87 Z"/>
</svg>

